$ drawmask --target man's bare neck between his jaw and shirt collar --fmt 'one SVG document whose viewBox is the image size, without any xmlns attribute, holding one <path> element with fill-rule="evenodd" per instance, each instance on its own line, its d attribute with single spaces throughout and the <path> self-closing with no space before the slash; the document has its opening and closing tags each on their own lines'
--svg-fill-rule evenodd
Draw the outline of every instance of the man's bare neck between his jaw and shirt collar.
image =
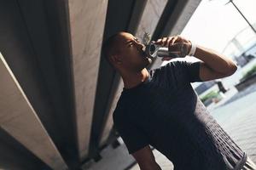
<svg viewBox="0 0 256 170">
<path fill-rule="evenodd" d="M 142 82 L 145 82 L 149 77 L 148 70 L 144 68 L 140 72 L 130 73 L 129 75 L 122 76 L 125 88 L 134 88 Z"/>
</svg>

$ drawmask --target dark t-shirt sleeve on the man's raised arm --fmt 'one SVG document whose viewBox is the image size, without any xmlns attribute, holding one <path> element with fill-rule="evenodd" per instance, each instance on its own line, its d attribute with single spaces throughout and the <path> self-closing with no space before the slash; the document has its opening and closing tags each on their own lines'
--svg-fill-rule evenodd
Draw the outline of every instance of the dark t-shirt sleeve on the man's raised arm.
<svg viewBox="0 0 256 170">
<path fill-rule="evenodd" d="M 166 65 L 168 75 L 173 75 L 177 81 L 202 82 L 200 78 L 201 61 L 172 61 Z"/>
</svg>

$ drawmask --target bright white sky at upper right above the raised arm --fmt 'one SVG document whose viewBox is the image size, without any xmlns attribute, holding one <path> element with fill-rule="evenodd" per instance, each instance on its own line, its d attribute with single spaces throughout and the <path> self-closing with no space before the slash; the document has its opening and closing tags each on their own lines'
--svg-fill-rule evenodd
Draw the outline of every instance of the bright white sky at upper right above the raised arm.
<svg viewBox="0 0 256 170">
<path fill-rule="evenodd" d="M 247 22 L 227 0 L 202 0 L 181 36 L 207 48 L 222 52 Z M 256 22 L 256 0 L 233 0 L 251 24 Z"/>
</svg>

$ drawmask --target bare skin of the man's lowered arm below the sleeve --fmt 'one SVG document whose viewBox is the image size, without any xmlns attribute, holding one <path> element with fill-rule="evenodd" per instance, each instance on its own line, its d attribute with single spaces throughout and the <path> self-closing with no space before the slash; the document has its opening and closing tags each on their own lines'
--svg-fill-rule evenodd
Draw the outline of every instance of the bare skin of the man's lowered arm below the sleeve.
<svg viewBox="0 0 256 170">
<path fill-rule="evenodd" d="M 141 170 L 161 170 L 154 159 L 154 154 L 149 145 L 131 154 L 137 161 Z"/>
</svg>

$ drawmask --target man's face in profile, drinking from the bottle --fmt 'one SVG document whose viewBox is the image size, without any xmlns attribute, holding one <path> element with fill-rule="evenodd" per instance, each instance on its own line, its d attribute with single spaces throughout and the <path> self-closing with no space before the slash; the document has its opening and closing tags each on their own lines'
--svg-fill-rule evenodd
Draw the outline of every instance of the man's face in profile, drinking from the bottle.
<svg viewBox="0 0 256 170">
<path fill-rule="evenodd" d="M 123 68 L 141 71 L 152 62 L 143 51 L 143 47 L 144 45 L 137 40 L 137 37 L 130 33 L 122 32 L 119 35 L 117 48 L 119 48 L 119 59 Z"/>
</svg>

